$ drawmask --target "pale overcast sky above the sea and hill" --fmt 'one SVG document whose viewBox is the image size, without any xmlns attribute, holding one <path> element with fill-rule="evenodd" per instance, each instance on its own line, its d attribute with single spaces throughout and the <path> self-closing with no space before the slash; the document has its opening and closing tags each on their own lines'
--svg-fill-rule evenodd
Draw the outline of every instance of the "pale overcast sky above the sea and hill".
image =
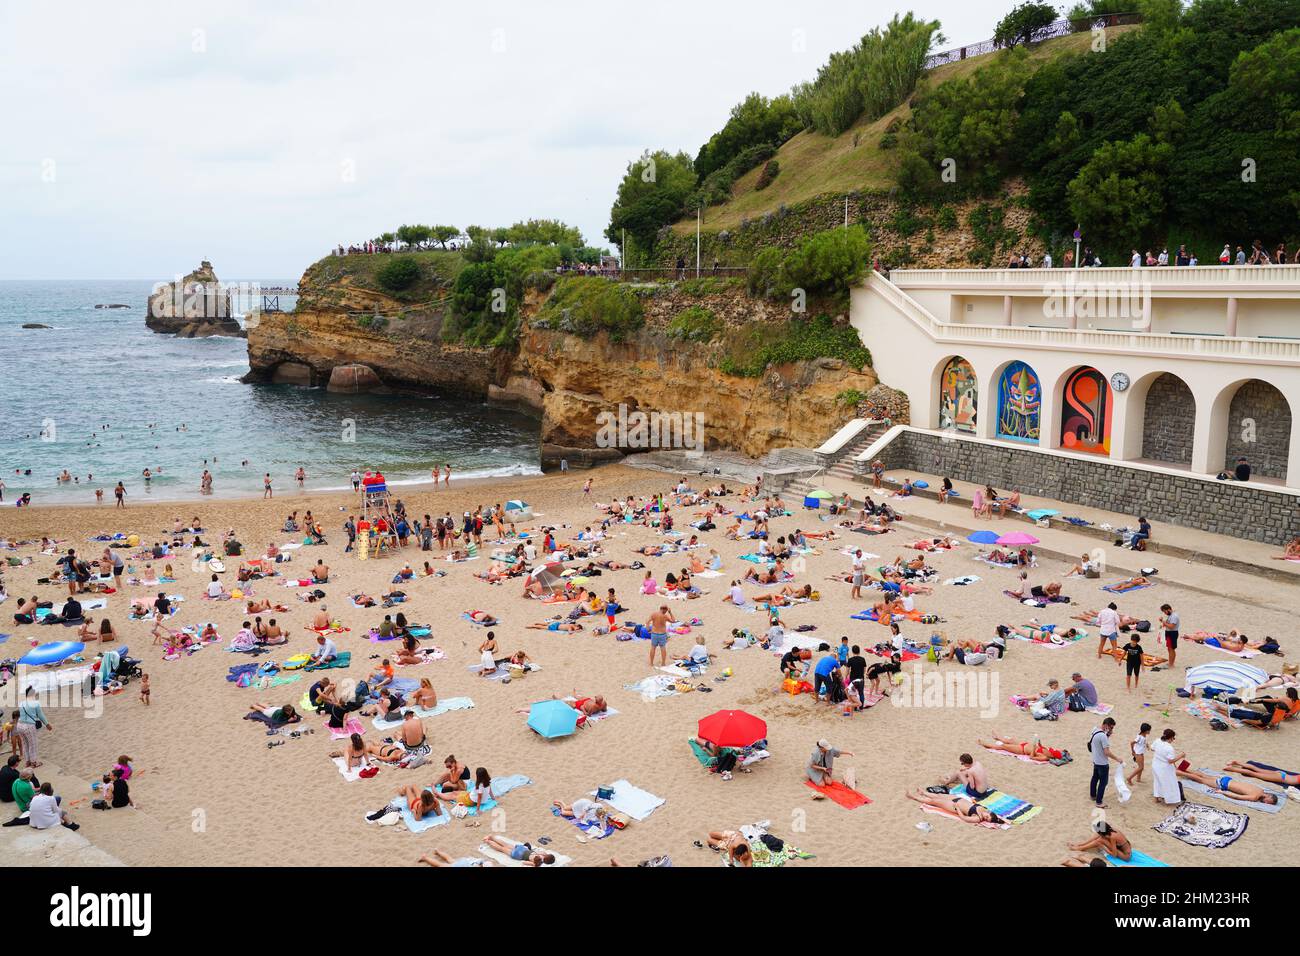
<svg viewBox="0 0 1300 956">
<path fill-rule="evenodd" d="M 948 46 L 1002 5 L 927 0 Z M 0 0 L 0 278 L 296 280 L 402 222 L 555 217 L 692 156 L 892 4 Z"/>
</svg>

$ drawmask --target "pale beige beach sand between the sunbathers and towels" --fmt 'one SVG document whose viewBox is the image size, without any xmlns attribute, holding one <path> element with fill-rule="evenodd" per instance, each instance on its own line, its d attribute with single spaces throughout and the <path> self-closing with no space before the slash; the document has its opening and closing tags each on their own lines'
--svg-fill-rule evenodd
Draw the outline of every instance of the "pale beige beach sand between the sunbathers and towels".
<svg viewBox="0 0 1300 956">
<path fill-rule="evenodd" d="M 594 477 L 590 499 L 581 494 L 582 481 Z M 477 503 L 493 503 L 512 497 L 524 497 L 541 512 L 538 524 L 569 525 L 559 537 L 567 540 L 586 524 L 598 524 L 601 515 L 594 502 L 629 493 L 666 490 L 671 477 L 625 467 L 606 467 L 594 472 L 537 479 L 510 479 L 464 484 L 450 490 L 424 492 L 403 496 L 412 515 L 451 511 L 459 515 Z M 728 499 L 734 507 L 737 499 Z M 329 544 L 294 551 L 289 570 L 303 572 L 317 558 L 324 558 L 333 568 L 333 579 L 325 587 L 330 611 L 341 618 L 350 633 L 337 637 L 341 649 L 352 652 L 354 663 L 347 675 L 361 676 L 374 661 L 368 658 L 391 645 L 370 644 L 365 632 L 386 613 L 380 607 L 359 610 L 350 605 L 347 594 L 365 591 L 381 593 L 400 566 L 402 558 L 359 562 L 343 554 L 346 537 L 341 532 L 341 509 L 352 509 L 350 494 L 313 494 L 281 492 L 273 501 L 196 501 L 190 503 L 142 505 L 135 501 L 125 511 L 114 511 L 110 505 L 99 507 L 46 507 L 20 511 L 5 507 L 0 511 L 0 536 L 39 537 L 42 533 L 68 538 L 68 544 L 81 553 L 98 554 L 100 548 L 86 538 L 95 532 L 138 531 L 144 541 L 161 538 L 164 528 L 172 527 L 177 515 L 188 518 L 198 514 L 204 527 L 217 535 L 234 528 L 250 549 L 259 553 L 266 541 L 283 542 L 292 536 L 280 527 L 291 510 L 311 509 L 324 518 Z M 904 509 L 906 510 L 906 509 Z M 823 512 L 824 516 L 824 512 Z M 682 514 L 677 515 L 682 528 Z M 723 525 L 724 527 L 724 525 Z M 774 520 L 775 533 L 794 527 L 826 529 L 831 522 L 818 520 L 797 509 L 790 518 Z M 1009 525 L 1010 527 L 1010 525 Z M 685 528 L 684 528 L 685 529 Z M 1017 525 L 1015 529 L 1020 529 Z M 689 529 L 686 529 L 689 533 Z M 823 554 L 807 558 L 806 568 L 797 583 L 811 583 L 822 593 L 812 605 L 785 610 L 788 626 L 812 623 L 818 626 L 812 636 L 837 644 L 841 635 L 853 643 L 885 640 L 887 628 L 880 624 L 852 620 L 849 615 L 876 600 L 866 592 L 866 601 L 853 601 L 849 585 L 831 583 L 827 576 L 849 567 L 849 558 L 837 548 L 862 546 L 890 559 L 904 546 L 928 532 L 909 528 L 906 522 L 885 536 L 866 537 L 845 533 L 842 540 L 823 546 Z M 205 536 L 207 538 L 208 536 Z M 266 697 L 276 704 L 296 702 L 311 683 L 303 680 L 276 691 L 240 689 L 224 679 L 228 667 L 250 659 L 226 652 L 229 639 L 244 619 L 242 605 L 237 602 L 202 601 L 199 594 L 208 580 L 207 574 L 194 574 L 188 557 L 173 561 L 179 580 L 166 589 L 186 596 L 173 626 L 214 620 L 224 637 L 221 644 L 207 646 L 179 661 L 161 661 L 161 649 L 152 646 L 148 623 L 126 619 L 126 605 L 134 596 L 152 596 L 157 588 L 124 588 L 125 593 L 110 598 L 108 617 L 113 620 L 125 643 L 135 656 L 143 657 L 144 669 L 152 676 L 152 706 L 144 708 L 130 685 L 124 693 L 109 697 L 103 717 L 84 719 L 72 711 L 55 711 L 49 717 L 55 730 L 42 736 L 44 777 L 56 782 L 58 792 L 73 806 L 82 823 L 79 836 L 92 852 L 81 853 L 81 860 L 130 864 L 179 865 L 415 865 L 416 857 L 430 848 L 441 848 L 454 857 L 473 855 L 485 832 L 497 831 L 514 839 L 533 840 L 550 836 L 554 845 L 573 857 L 573 865 L 602 865 L 616 856 L 623 862 L 637 862 L 651 856 L 671 855 L 673 864 L 718 865 L 718 857 L 693 845 L 703 840 L 712 829 L 736 827 L 754 821 L 771 821 L 771 830 L 815 853 L 815 860 L 801 861 L 797 866 L 827 865 L 1054 865 L 1066 855 L 1066 842 L 1082 840 L 1088 835 L 1092 804 L 1088 799 L 1091 766 L 1084 743 L 1091 728 L 1100 719 L 1092 714 L 1066 714 L 1054 723 L 1035 723 L 1026 714 L 1008 704 L 1013 693 L 1041 689 L 1050 676 L 1067 680 L 1074 670 L 1082 671 L 1097 684 L 1105 702 L 1114 705 L 1118 721 L 1114 736 L 1117 752 L 1127 753 L 1127 741 L 1136 732 L 1138 723 L 1150 722 L 1158 737 L 1160 731 L 1174 727 L 1179 744 L 1188 750 L 1195 766 L 1221 767 L 1228 758 L 1260 760 L 1266 763 L 1290 766 L 1297 762 L 1295 726 L 1275 732 L 1248 728 L 1226 734 L 1213 732 L 1208 722 L 1188 715 L 1175 698 L 1169 717 L 1165 709 L 1170 689 L 1180 683 L 1184 665 L 1226 659 L 1217 650 L 1183 643 L 1179 653 L 1178 675 L 1169 671 L 1145 674 L 1141 688 L 1126 693 L 1123 672 L 1110 658 L 1097 659 L 1096 643 L 1083 641 L 1063 649 L 1032 646 L 1013 643 L 1005 661 L 991 666 L 968 669 L 945 663 L 937 670 L 978 675 L 993 682 L 992 693 L 997 704 L 994 715 L 982 715 L 978 708 L 902 708 L 884 701 L 874 709 L 852 717 L 842 717 L 837 709 L 816 704 L 809 696 L 792 698 L 779 691 L 776 658 L 759 649 L 725 652 L 722 639 L 734 627 L 762 631 L 763 614 L 749 614 L 722 602 L 733 576 L 741 576 L 749 564 L 738 561 L 750 550 L 751 542 L 723 540 L 722 527 L 703 535 L 710 548 L 716 548 L 725 559 L 724 576 L 698 580 L 710 593 L 690 602 L 670 606 L 679 618 L 698 615 L 710 649 L 720 656 L 710 674 L 699 683 L 711 688 L 710 693 L 694 692 L 644 701 L 637 693 L 625 691 L 624 684 L 637 682 L 654 671 L 647 665 L 649 646 L 644 641 L 618 643 L 610 636 L 594 636 L 590 627 L 584 633 L 560 635 L 528 631 L 524 624 L 547 617 L 547 609 L 519 597 L 519 584 L 489 585 L 473 578 L 474 571 L 488 566 L 488 559 L 468 563 L 434 561 L 446 568 L 445 578 L 417 579 L 404 585 L 411 598 L 399 609 L 413 622 L 433 627 L 432 641 L 446 652 L 446 659 L 399 669 L 403 676 L 429 676 L 441 697 L 468 696 L 474 701 L 472 710 L 443 714 L 425 721 L 433 741 L 434 758 L 455 753 L 471 766 L 486 766 L 494 777 L 526 774 L 532 786 L 523 787 L 499 801 L 497 813 L 482 819 L 480 827 L 467 827 L 462 821 L 437 827 L 424 834 L 411 834 L 404 826 L 380 827 L 367 823 L 367 812 L 381 806 L 395 787 L 407 782 L 428 783 L 434 767 L 422 770 L 385 769 L 376 778 L 344 782 L 326 757 L 334 749 L 328 735 L 321 731 L 321 718 L 309 717 L 300 727 L 317 732 L 298 739 L 287 739 L 283 747 L 268 748 L 259 723 L 240 719 L 248 705 Z M 623 525 L 607 542 L 606 557 L 630 562 L 630 549 L 641 544 L 662 541 L 651 528 Z M 488 550 L 488 549 L 485 549 Z M 1072 579 L 1066 593 L 1075 605 L 1058 606 L 1043 611 L 1020 607 L 1002 596 L 1002 588 L 1011 587 L 1014 571 L 992 568 L 972 561 L 972 545 L 963 545 L 952 553 L 932 555 L 930 562 L 939 570 L 937 580 L 976 574 L 983 580 L 970 587 L 944 587 L 936 584 L 933 596 L 916 598 L 923 611 L 937 613 L 945 622 L 937 626 L 907 623 L 904 632 L 918 639 L 941 630 L 954 637 L 984 637 L 998 623 L 1023 623 L 1031 615 L 1041 620 L 1062 624 L 1082 604 L 1097 607 L 1109 596 L 1098 591 L 1098 581 Z M 1080 549 L 1082 550 L 1082 549 Z M 25 546 L 20 554 L 34 554 L 35 548 Z M 12 551 L 10 551 L 12 554 Z M 437 558 L 408 549 L 415 567 L 424 559 Z M 42 598 L 60 600 L 66 588 L 36 587 L 35 579 L 49 572 L 53 559 L 36 555 L 34 564 L 8 568 L 9 593 L 40 594 Z M 138 566 L 140 562 L 135 562 Z M 164 562 L 157 562 L 159 564 Z M 682 555 L 649 558 L 646 563 L 662 579 L 668 570 L 680 568 Z M 1118 597 L 1121 610 L 1150 619 L 1158 618 L 1158 606 L 1170 601 L 1180 611 L 1183 630 L 1240 627 L 1253 635 L 1271 632 L 1290 641 L 1291 619 L 1275 609 L 1243 606 L 1222 596 L 1188 591 L 1178 585 L 1179 564 L 1166 562 L 1162 580 L 1157 587 Z M 234 567 L 229 562 L 225 580 L 234 585 Z M 1065 568 L 1043 567 L 1032 572 L 1031 580 L 1043 583 L 1060 579 Z M 638 593 L 641 571 L 606 572 L 593 579 L 602 592 L 615 587 L 620 600 L 629 606 L 628 619 L 644 619 L 659 600 Z M 1104 583 L 1104 581 L 1102 581 Z M 758 588 L 749 585 L 748 593 Z M 287 623 L 292 641 L 287 649 L 269 657 L 283 659 L 291 653 L 307 652 L 315 646 L 315 635 L 303 630 L 312 605 L 298 604 L 294 592 L 282 589 L 278 581 L 255 585 L 259 597 L 269 596 L 291 606 L 287 614 L 277 614 Z M 1294 601 L 1290 601 L 1294 606 Z M 12 613 L 14 597 L 0 607 L 3 630 L 13 636 L 4 645 L 5 656 L 25 653 L 29 639 L 70 639 L 72 631 L 14 626 Z M 523 648 L 542 665 L 542 670 L 510 684 L 477 679 L 467 667 L 478 658 L 477 645 L 484 632 L 460 619 L 465 609 L 482 607 L 502 619 L 495 628 L 503 652 Z M 567 610 L 567 606 L 562 606 Z M 101 613 L 94 613 L 96 619 Z M 590 623 L 599 619 L 586 619 Z M 670 652 L 682 653 L 693 643 L 692 637 L 672 637 Z M 1154 648 L 1153 636 L 1144 641 L 1148 650 Z M 1292 654 L 1295 649 L 1292 648 Z M 1275 658 L 1256 658 L 1270 671 L 1278 670 Z M 715 683 L 724 666 L 734 676 L 725 683 Z M 910 666 L 909 666 L 910 667 Z M 936 670 L 926 665 L 926 672 Z M 333 676 L 339 676 L 334 671 Z M 603 693 L 620 713 L 597 722 L 575 736 L 542 740 L 524 726 L 519 709 L 530 701 L 551 693 L 578 691 L 584 695 Z M 696 731 L 697 721 L 715 710 L 740 708 L 767 721 L 771 758 L 760 762 L 753 774 L 737 774 L 732 780 L 722 780 L 706 774 L 686 745 Z M 365 722 L 367 737 L 382 735 Z M 1011 757 L 985 754 L 978 740 L 994 734 L 1028 737 L 1037 731 L 1048 745 L 1070 749 L 1076 760 L 1069 766 L 1041 766 L 1019 762 Z M 811 799 L 803 786 L 803 765 L 818 737 L 829 737 L 853 757 L 844 756 L 836 769 L 853 767 L 858 787 L 871 804 L 846 810 L 836 804 Z M 1027 823 L 1008 831 L 965 826 L 937 816 L 922 813 L 916 804 L 904 799 L 910 787 L 935 783 L 940 775 L 956 769 L 957 756 L 963 750 L 983 760 L 994 786 L 1040 805 L 1043 812 Z M 121 753 L 130 754 L 138 769 L 131 793 L 139 809 L 94 812 L 88 806 L 90 782 L 108 769 Z M 552 800 L 566 803 L 586 795 L 598 784 L 628 779 L 637 787 L 666 800 L 645 821 L 630 826 L 604 840 L 580 843 L 578 831 L 550 813 Z M 1150 770 L 1145 783 L 1135 786 L 1134 797 L 1121 804 L 1113 792 L 1109 819 L 1124 831 L 1135 847 L 1173 865 L 1280 865 L 1294 862 L 1294 847 L 1300 836 L 1300 808 L 1287 806 L 1278 814 L 1249 812 L 1251 826 L 1245 835 L 1225 849 L 1202 849 L 1186 845 L 1170 836 L 1150 830 L 1167 810 L 1153 804 L 1150 797 Z M 1216 803 L 1219 801 L 1208 801 Z M 1223 804 L 1230 809 L 1239 809 Z M 930 825 L 919 830 L 918 823 Z M 25 862 L 53 862 L 60 853 L 42 853 L 30 847 L 30 840 L 20 845 L 16 832 L 0 831 L 0 856 L 21 857 Z M 96 856 L 98 855 L 98 856 Z"/>
</svg>

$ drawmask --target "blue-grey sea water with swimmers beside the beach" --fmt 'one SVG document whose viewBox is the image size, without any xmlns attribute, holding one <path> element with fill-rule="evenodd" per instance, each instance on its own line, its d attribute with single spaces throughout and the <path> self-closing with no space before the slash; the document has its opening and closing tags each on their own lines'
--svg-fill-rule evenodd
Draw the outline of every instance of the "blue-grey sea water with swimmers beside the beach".
<svg viewBox="0 0 1300 956">
<path fill-rule="evenodd" d="M 110 505 L 118 480 L 127 503 L 198 498 L 204 468 L 216 497 L 260 494 L 268 471 L 277 494 L 289 492 L 299 466 L 309 489 L 344 488 L 354 467 L 398 484 L 428 483 L 443 463 L 452 481 L 540 471 L 537 423 L 482 402 L 243 385 L 244 339 L 144 328 L 151 287 L 0 281 L 4 507 L 23 492 L 38 506 L 91 503 L 96 488 Z M 65 468 L 75 483 L 57 481 Z M 144 468 L 155 472 L 148 485 Z"/>
</svg>

